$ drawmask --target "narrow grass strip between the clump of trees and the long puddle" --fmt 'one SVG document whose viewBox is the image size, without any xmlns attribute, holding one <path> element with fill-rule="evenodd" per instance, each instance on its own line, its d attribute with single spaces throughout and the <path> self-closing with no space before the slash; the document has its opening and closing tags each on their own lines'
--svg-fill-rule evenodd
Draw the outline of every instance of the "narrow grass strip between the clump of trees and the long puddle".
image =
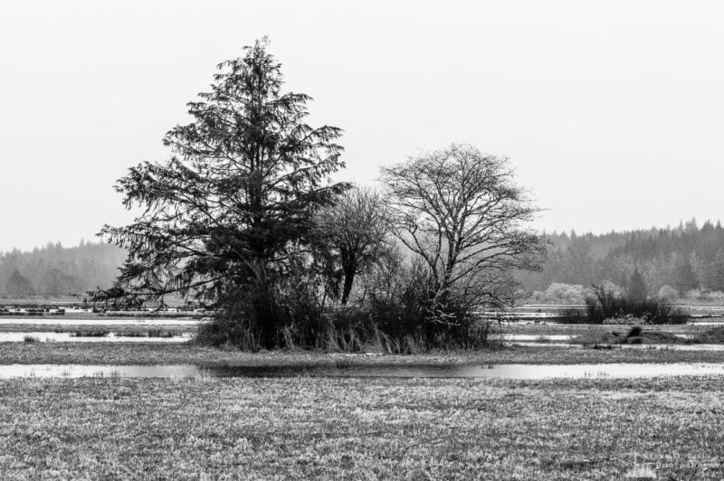
<svg viewBox="0 0 724 481">
<path fill-rule="evenodd" d="M 245 353 L 189 344 L 0 343 L 0 364 L 203 364 L 207 366 L 334 366 L 340 357 L 358 365 L 724 363 L 724 351 L 567 349 L 515 346 L 411 355 L 329 354 L 319 351 Z"/>
</svg>

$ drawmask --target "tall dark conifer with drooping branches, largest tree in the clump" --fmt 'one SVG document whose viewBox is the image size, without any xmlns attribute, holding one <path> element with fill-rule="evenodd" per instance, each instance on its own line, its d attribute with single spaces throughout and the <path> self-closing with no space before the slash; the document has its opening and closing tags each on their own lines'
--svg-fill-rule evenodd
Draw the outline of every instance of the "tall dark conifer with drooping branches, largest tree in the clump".
<svg viewBox="0 0 724 481">
<path fill-rule="evenodd" d="M 126 207 L 143 211 L 101 231 L 129 250 L 115 288 L 149 299 L 178 292 L 216 307 L 269 294 L 289 274 L 314 207 L 345 189 L 326 180 L 343 166 L 341 130 L 304 123 L 310 97 L 282 93 L 267 43 L 219 64 L 211 91 L 188 104 L 194 121 L 164 137 L 175 156 L 119 180 Z M 255 317 L 262 344 L 274 335 L 272 317 Z"/>
</svg>

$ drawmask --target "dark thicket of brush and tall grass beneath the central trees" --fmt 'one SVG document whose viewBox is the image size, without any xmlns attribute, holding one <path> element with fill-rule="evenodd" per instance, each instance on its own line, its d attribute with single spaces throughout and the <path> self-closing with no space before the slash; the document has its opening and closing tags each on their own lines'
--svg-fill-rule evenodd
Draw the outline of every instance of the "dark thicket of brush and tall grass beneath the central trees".
<svg viewBox="0 0 724 481">
<path fill-rule="evenodd" d="M 472 308 L 450 302 L 443 313 L 428 308 L 429 278 L 419 265 L 400 267 L 348 306 L 324 306 L 297 278 L 272 289 L 230 293 L 224 312 L 199 328 L 196 342 L 257 351 L 324 349 L 414 354 L 430 349 L 475 349 L 488 345 L 493 325 Z"/>
</svg>

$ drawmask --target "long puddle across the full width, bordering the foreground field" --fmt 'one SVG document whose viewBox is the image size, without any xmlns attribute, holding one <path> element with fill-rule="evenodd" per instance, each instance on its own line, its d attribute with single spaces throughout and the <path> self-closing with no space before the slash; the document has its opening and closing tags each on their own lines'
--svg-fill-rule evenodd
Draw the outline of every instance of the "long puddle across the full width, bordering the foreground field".
<svg viewBox="0 0 724 481">
<path fill-rule="evenodd" d="M 234 377 L 395 377 L 395 378 L 500 378 L 586 379 L 646 378 L 656 376 L 724 375 L 724 363 L 619 363 L 619 364 L 493 364 L 463 366 L 351 366 L 335 367 L 212 367 L 173 365 L 0 365 L 0 379 L 130 377 L 130 378 L 234 378 Z"/>
</svg>

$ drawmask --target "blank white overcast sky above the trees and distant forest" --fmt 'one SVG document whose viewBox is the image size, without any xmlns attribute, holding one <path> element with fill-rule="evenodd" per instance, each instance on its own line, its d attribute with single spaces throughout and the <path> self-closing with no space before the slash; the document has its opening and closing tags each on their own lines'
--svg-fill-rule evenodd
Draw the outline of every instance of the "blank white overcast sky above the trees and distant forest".
<svg viewBox="0 0 724 481">
<path fill-rule="evenodd" d="M 510 156 L 540 229 L 724 218 L 724 2 L 27 1 L 0 10 L 0 250 L 129 222 L 116 179 L 264 34 L 345 129 L 338 179 L 458 141 Z"/>
</svg>

